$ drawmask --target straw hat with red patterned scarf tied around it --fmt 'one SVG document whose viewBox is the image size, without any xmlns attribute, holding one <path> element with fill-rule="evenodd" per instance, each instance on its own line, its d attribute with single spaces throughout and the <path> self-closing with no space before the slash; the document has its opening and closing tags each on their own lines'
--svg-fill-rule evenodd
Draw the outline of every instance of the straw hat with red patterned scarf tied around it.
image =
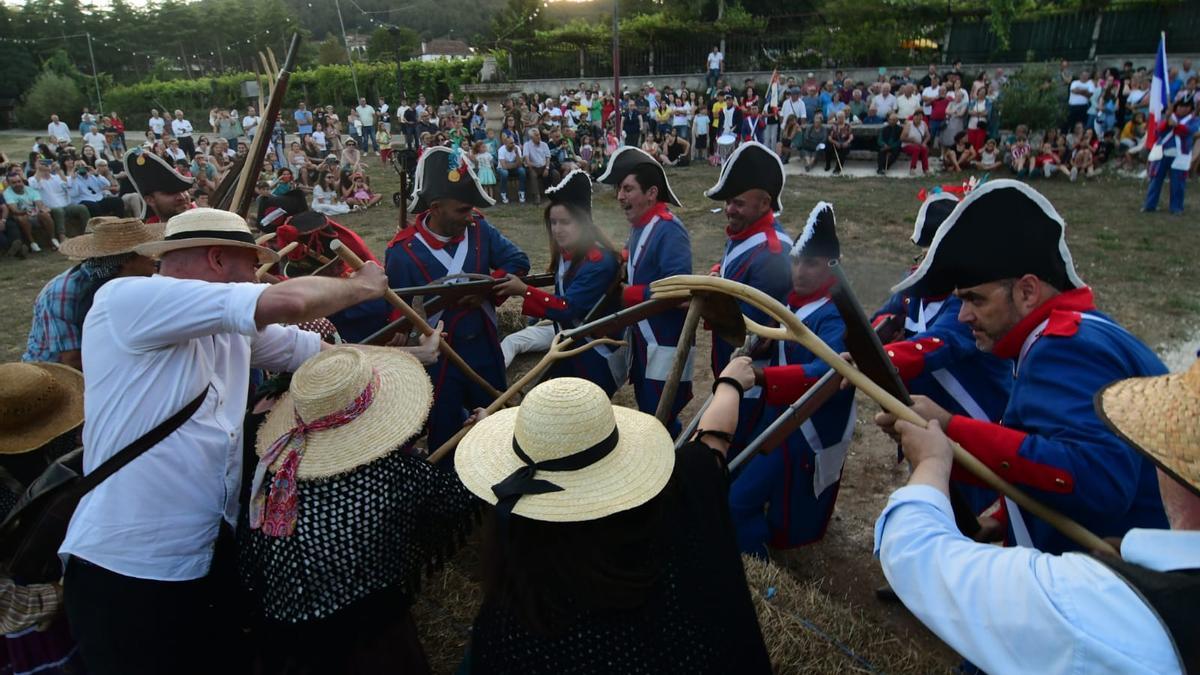
<svg viewBox="0 0 1200 675">
<path fill-rule="evenodd" d="M 335 347 L 308 359 L 292 376 L 258 429 L 254 452 L 263 456 L 296 424 L 312 423 L 346 410 L 379 375 L 371 405 L 359 417 L 334 428 L 310 431 L 296 478 L 319 479 L 370 464 L 415 436 L 433 404 L 430 376 L 412 356 L 388 347 Z M 277 471 L 281 455 L 271 471 Z"/>
</svg>

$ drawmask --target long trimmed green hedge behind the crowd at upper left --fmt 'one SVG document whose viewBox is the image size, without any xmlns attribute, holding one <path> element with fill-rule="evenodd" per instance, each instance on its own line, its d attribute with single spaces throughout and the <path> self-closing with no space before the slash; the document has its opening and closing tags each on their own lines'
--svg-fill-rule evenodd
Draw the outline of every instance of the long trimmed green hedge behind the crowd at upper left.
<svg viewBox="0 0 1200 675">
<path fill-rule="evenodd" d="M 372 103 L 383 96 L 392 106 L 400 101 L 401 90 L 415 97 L 424 94 L 430 101 L 440 101 L 450 92 L 458 92 L 463 84 L 479 82 L 481 58 L 458 61 L 402 61 L 398 73 L 396 62 L 355 64 L 359 94 Z M 253 100 L 241 95 L 241 83 L 254 79 L 254 73 L 230 73 L 197 79 L 149 80 L 115 86 L 104 92 L 104 109 L 138 119 L 150 108 L 173 110 L 180 108 L 190 115 L 214 107 L 234 107 L 245 110 Z M 265 79 L 262 80 L 265 88 Z M 265 89 L 264 89 L 265 94 Z M 344 108 L 356 103 L 354 78 L 348 65 L 319 66 L 292 73 L 288 91 L 283 98 L 284 109 L 295 107 L 301 100 L 310 106 L 331 104 Z M 194 121 L 194 119 L 193 119 Z"/>
</svg>

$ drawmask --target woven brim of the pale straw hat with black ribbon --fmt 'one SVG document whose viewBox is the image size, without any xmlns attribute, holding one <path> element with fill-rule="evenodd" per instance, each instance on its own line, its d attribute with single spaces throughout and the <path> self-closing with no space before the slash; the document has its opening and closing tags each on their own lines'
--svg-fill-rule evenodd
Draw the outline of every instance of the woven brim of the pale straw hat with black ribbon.
<svg viewBox="0 0 1200 675">
<path fill-rule="evenodd" d="M 475 496 L 497 502 L 492 485 L 524 466 L 512 452 L 517 411 L 499 411 L 476 424 L 458 443 L 455 470 Z M 538 478 L 563 488 L 526 495 L 512 513 L 532 520 L 578 522 L 640 507 L 654 498 L 674 470 L 674 443 L 653 416 L 614 406 L 620 440 L 607 456 L 578 471 L 539 472 Z"/>
</svg>

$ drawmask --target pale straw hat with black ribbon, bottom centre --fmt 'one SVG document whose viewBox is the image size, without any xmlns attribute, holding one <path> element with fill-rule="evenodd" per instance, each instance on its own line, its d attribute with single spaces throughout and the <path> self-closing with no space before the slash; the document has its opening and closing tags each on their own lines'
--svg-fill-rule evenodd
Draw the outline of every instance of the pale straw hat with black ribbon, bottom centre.
<svg viewBox="0 0 1200 675">
<path fill-rule="evenodd" d="M 494 504 L 499 498 L 493 488 L 529 468 L 517 447 L 542 464 L 594 452 L 614 431 L 612 449 L 582 468 L 539 468 L 533 478 L 559 490 L 524 492 L 512 507 L 512 513 L 533 520 L 595 520 L 662 491 L 674 468 L 674 443 L 653 416 L 613 406 L 604 389 L 586 380 L 544 382 L 518 408 L 485 418 L 458 443 L 455 470 L 468 490 Z"/>
</svg>

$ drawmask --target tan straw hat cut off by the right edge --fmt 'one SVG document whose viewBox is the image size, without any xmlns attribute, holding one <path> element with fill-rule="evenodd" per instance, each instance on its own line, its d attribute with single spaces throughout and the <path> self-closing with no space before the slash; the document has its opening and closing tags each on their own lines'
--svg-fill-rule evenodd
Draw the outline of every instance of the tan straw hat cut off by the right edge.
<svg viewBox="0 0 1200 675">
<path fill-rule="evenodd" d="M 1200 360 L 1187 372 L 1121 380 L 1096 394 L 1117 436 L 1200 495 Z"/>
</svg>

